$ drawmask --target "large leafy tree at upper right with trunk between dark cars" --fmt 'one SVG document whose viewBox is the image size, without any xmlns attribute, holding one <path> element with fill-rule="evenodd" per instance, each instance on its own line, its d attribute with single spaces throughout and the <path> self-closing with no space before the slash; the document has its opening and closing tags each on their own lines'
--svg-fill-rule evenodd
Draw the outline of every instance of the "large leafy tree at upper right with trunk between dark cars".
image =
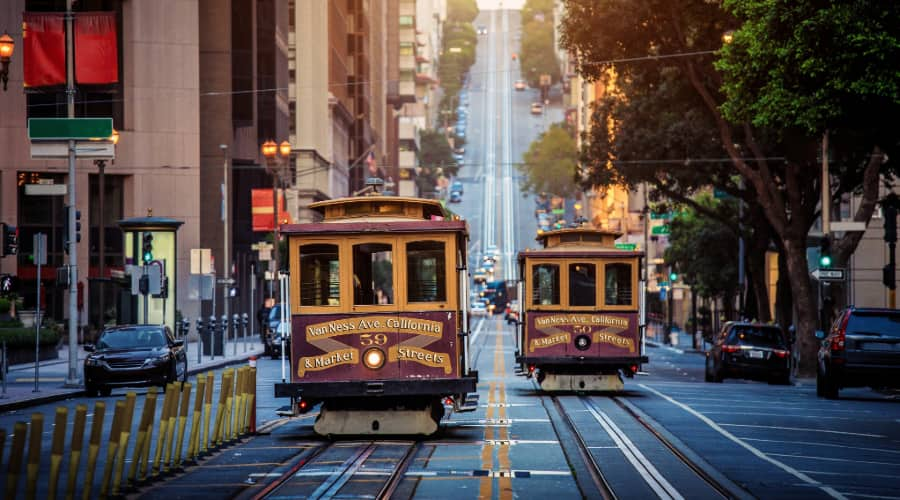
<svg viewBox="0 0 900 500">
<path fill-rule="evenodd" d="M 828 72 L 814 71 L 811 66 L 821 62 L 822 54 L 827 54 L 829 63 L 832 58 L 845 61 L 844 56 L 847 60 L 861 58 L 882 61 L 882 64 L 883 60 L 892 60 L 897 50 L 893 31 L 898 27 L 896 23 L 884 26 L 884 21 L 876 20 L 896 19 L 896 16 L 891 17 L 891 12 L 896 14 L 897 7 L 882 8 L 879 6 L 883 3 L 874 0 L 845 2 L 852 7 L 843 10 L 811 0 L 747 0 L 727 4 L 731 11 L 723 10 L 717 2 L 704 0 L 566 0 L 563 44 L 576 52 L 579 72 L 607 83 L 613 78 L 612 74 L 617 82 L 622 82 L 627 100 L 631 101 L 634 95 L 638 101 L 633 105 L 605 102 L 598 108 L 600 118 L 615 121 L 615 134 L 588 147 L 587 156 L 594 162 L 588 164 L 585 174 L 592 179 L 610 177 L 598 171 L 598 167 L 607 168 L 610 159 L 652 163 L 680 156 L 684 164 L 687 155 L 698 158 L 693 146 L 699 147 L 704 155 L 718 152 L 718 155 L 708 157 L 710 163 L 690 164 L 691 169 L 698 171 L 697 175 L 695 172 L 686 175 L 666 172 L 672 164 L 665 163 L 658 163 L 651 171 L 661 176 L 657 185 L 670 191 L 689 191 L 696 187 L 697 176 L 702 175 L 708 177 L 710 184 L 748 202 L 757 202 L 776 246 L 785 256 L 797 317 L 800 368 L 802 373 L 811 374 L 815 369 L 816 344 L 812 333 L 816 305 L 807 272 L 806 238 L 818 214 L 821 178 L 816 158 L 818 141 L 824 130 L 842 131 L 831 141 L 835 146 L 831 155 L 832 172 L 837 179 L 833 198 L 860 193 L 862 201 L 854 218 L 867 221 L 877 198 L 878 176 L 883 171 L 880 153 L 888 146 L 879 144 L 876 149 L 870 139 L 880 134 L 867 135 L 864 120 L 854 116 L 883 113 L 883 108 L 879 111 L 875 106 L 876 102 L 895 106 L 896 93 L 891 90 L 894 88 L 891 85 L 877 86 L 874 92 L 885 99 L 858 99 L 849 105 L 841 103 L 828 115 L 830 120 L 818 121 L 818 127 L 808 124 L 804 127 L 803 120 L 761 120 L 754 115 L 753 108 L 738 104 L 758 97 L 758 102 L 772 103 L 770 110 L 780 108 L 788 112 L 808 108 L 810 102 L 833 108 L 831 99 L 840 99 L 841 93 L 823 92 L 822 89 L 829 88 Z M 850 11 L 859 22 L 846 22 Z M 885 15 L 887 17 L 883 17 Z M 811 20 L 813 24 L 809 25 Z M 864 34 L 864 24 L 883 27 L 887 33 L 883 36 L 884 43 L 872 43 L 873 38 Z M 722 49 L 722 34 L 734 28 L 737 28 L 732 38 L 735 43 Z M 823 40 L 824 33 L 846 35 L 847 44 L 835 43 L 827 47 L 843 50 L 843 54 L 822 51 L 816 46 Z M 754 40 L 754 37 L 759 38 Z M 830 36 L 826 38 L 832 40 Z M 721 73 L 713 66 L 715 53 L 722 54 Z M 783 81 L 767 86 L 769 79 L 782 78 L 778 68 L 772 66 L 775 60 L 782 61 L 785 66 Z M 862 67 L 870 66 L 866 63 Z M 615 68 L 614 73 L 611 68 Z M 852 70 L 847 68 L 839 72 L 850 76 Z M 745 74 L 746 78 L 739 78 L 738 82 L 743 83 L 735 86 L 732 79 L 739 73 Z M 856 79 L 842 79 L 834 84 L 835 90 L 840 85 L 849 85 L 842 87 L 845 90 L 852 89 L 857 80 L 872 77 L 871 74 L 860 74 Z M 888 79 L 896 77 L 894 71 Z M 796 92 L 787 97 L 779 95 L 779 87 Z M 743 100 L 729 97 L 732 95 L 743 96 Z M 851 109 L 853 105 L 861 107 Z M 616 106 L 630 109 L 619 118 L 615 114 Z M 637 116 L 648 116 L 649 110 L 653 109 L 660 116 L 659 120 L 634 121 Z M 643 114 L 638 112 L 641 110 L 644 110 Z M 821 111 L 813 110 L 812 114 L 816 113 Z M 680 116 L 690 116 L 691 122 L 679 119 Z M 594 129 L 602 129 L 609 123 L 598 122 L 597 118 L 595 112 L 595 125 L 602 123 L 603 127 L 595 126 Z M 603 131 L 597 134 L 603 134 Z M 627 138 L 619 139 L 623 134 Z M 703 137 L 710 140 L 703 141 Z M 893 137 L 896 145 L 897 135 Z M 620 148 L 623 144 L 630 144 L 630 148 Z M 643 150 L 638 149 L 641 144 Z M 687 145 L 693 146 L 679 149 Z M 634 156 L 623 155 L 623 151 Z M 727 161 L 715 162 L 722 152 Z M 663 154 L 651 156 L 659 153 Z M 619 181 L 626 178 L 622 170 L 618 169 L 615 174 Z M 736 179 L 734 174 L 740 177 Z M 740 178 L 743 182 L 735 182 Z M 741 185 L 746 187 L 740 189 Z M 840 249 L 835 251 L 836 257 L 849 256 L 859 236 L 844 238 L 836 245 L 835 248 Z"/>
</svg>

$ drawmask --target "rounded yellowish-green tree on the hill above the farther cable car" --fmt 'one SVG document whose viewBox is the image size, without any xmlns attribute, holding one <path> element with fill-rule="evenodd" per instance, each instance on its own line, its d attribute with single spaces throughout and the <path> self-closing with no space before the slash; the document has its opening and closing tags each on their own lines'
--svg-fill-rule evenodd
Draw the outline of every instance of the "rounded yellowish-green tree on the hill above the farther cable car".
<svg viewBox="0 0 900 500">
<path fill-rule="evenodd" d="M 574 196 L 579 191 L 575 182 L 577 163 L 575 139 L 562 124 L 555 123 L 531 143 L 518 166 L 523 174 L 522 190 Z"/>
</svg>

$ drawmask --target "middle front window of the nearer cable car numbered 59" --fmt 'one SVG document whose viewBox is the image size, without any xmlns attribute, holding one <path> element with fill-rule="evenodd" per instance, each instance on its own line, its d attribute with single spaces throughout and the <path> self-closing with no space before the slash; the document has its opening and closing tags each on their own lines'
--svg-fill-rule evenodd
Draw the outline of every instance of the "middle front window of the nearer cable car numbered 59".
<svg viewBox="0 0 900 500">
<path fill-rule="evenodd" d="M 394 303 L 394 253 L 389 243 L 353 245 L 353 304 Z"/>
</svg>

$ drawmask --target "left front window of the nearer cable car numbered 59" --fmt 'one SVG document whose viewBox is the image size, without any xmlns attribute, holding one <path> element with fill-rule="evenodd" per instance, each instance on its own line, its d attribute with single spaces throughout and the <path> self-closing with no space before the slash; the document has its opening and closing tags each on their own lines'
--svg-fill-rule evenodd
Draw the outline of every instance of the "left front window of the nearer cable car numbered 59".
<svg viewBox="0 0 900 500">
<path fill-rule="evenodd" d="M 300 305 L 341 305 L 340 259 L 337 245 L 300 247 Z"/>
</svg>

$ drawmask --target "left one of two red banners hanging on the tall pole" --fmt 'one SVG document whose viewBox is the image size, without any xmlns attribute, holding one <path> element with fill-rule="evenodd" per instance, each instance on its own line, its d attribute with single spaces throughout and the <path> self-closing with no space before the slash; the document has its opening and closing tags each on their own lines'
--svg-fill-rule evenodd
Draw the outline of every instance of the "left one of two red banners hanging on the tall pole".
<svg viewBox="0 0 900 500">
<path fill-rule="evenodd" d="M 66 83 L 66 30 L 62 14 L 22 13 L 26 87 Z"/>
</svg>

